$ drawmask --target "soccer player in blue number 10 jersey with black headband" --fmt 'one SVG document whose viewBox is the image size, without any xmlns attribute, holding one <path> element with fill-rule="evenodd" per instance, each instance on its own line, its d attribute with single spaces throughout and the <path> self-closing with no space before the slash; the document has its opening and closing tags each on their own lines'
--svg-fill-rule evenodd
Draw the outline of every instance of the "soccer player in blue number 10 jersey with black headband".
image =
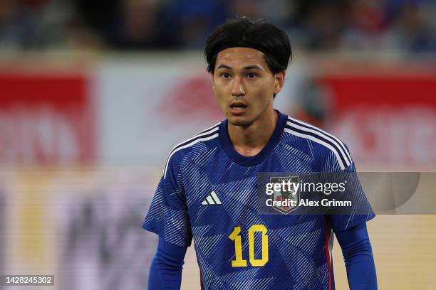
<svg viewBox="0 0 436 290">
<path fill-rule="evenodd" d="M 375 216 L 369 204 L 367 215 L 256 210 L 259 172 L 355 172 L 339 139 L 273 108 L 291 58 L 286 33 L 237 18 L 209 36 L 204 53 L 227 119 L 168 156 L 142 225 L 159 235 L 149 289 L 180 289 L 192 239 L 202 289 L 335 289 L 332 232 L 350 288 L 377 289 L 365 225 Z"/>
</svg>

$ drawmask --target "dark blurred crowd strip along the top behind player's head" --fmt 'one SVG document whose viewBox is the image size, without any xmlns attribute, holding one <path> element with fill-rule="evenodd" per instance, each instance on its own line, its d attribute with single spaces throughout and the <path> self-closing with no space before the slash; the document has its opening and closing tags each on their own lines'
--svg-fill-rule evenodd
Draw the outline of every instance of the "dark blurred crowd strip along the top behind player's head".
<svg viewBox="0 0 436 290">
<path fill-rule="evenodd" d="M 436 53 L 435 0 L 0 0 L 0 49 L 202 49 L 237 15 L 306 50 Z"/>
</svg>

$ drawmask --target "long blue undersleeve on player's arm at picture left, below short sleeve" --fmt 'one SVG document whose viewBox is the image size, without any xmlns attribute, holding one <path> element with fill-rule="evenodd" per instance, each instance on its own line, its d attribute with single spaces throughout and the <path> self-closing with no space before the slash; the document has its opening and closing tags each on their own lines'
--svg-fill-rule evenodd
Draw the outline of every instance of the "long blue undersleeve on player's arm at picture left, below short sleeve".
<svg viewBox="0 0 436 290">
<path fill-rule="evenodd" d="M 157 252 L 150 266 L 148 289 L 180 289 L 186 250 L 187 247 L 172 245 L 159 238 Z"/>
</svg>

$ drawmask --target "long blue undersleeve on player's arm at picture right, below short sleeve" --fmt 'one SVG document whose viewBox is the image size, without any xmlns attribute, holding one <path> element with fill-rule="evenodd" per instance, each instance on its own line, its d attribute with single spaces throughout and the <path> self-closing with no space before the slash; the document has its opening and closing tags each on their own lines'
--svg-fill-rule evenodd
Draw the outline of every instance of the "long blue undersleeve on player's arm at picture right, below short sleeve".
<svg viewBox="0 0 436 290">
<path fill-rule="evenodd" d="M 336 237 L 343 252 L 350 289 L 377 289 L 377 275 L 366 223 L 336 232 Z"/>
</svg>

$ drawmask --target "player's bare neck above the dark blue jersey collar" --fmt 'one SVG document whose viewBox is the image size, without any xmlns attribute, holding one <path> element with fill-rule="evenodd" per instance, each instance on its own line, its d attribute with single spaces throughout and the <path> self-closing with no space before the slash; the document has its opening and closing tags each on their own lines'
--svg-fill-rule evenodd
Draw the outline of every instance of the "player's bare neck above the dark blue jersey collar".
<svg viewBox="0 0 436 290">
<path fill-rule="evenodd" d="M 258 154 L 274 133 L 278 119 L 279 115 L 271 108 L 249 126 L 234 126 L 228 123 L 227 130 L 234 149 L 244 156 Z"/>
</svg>

